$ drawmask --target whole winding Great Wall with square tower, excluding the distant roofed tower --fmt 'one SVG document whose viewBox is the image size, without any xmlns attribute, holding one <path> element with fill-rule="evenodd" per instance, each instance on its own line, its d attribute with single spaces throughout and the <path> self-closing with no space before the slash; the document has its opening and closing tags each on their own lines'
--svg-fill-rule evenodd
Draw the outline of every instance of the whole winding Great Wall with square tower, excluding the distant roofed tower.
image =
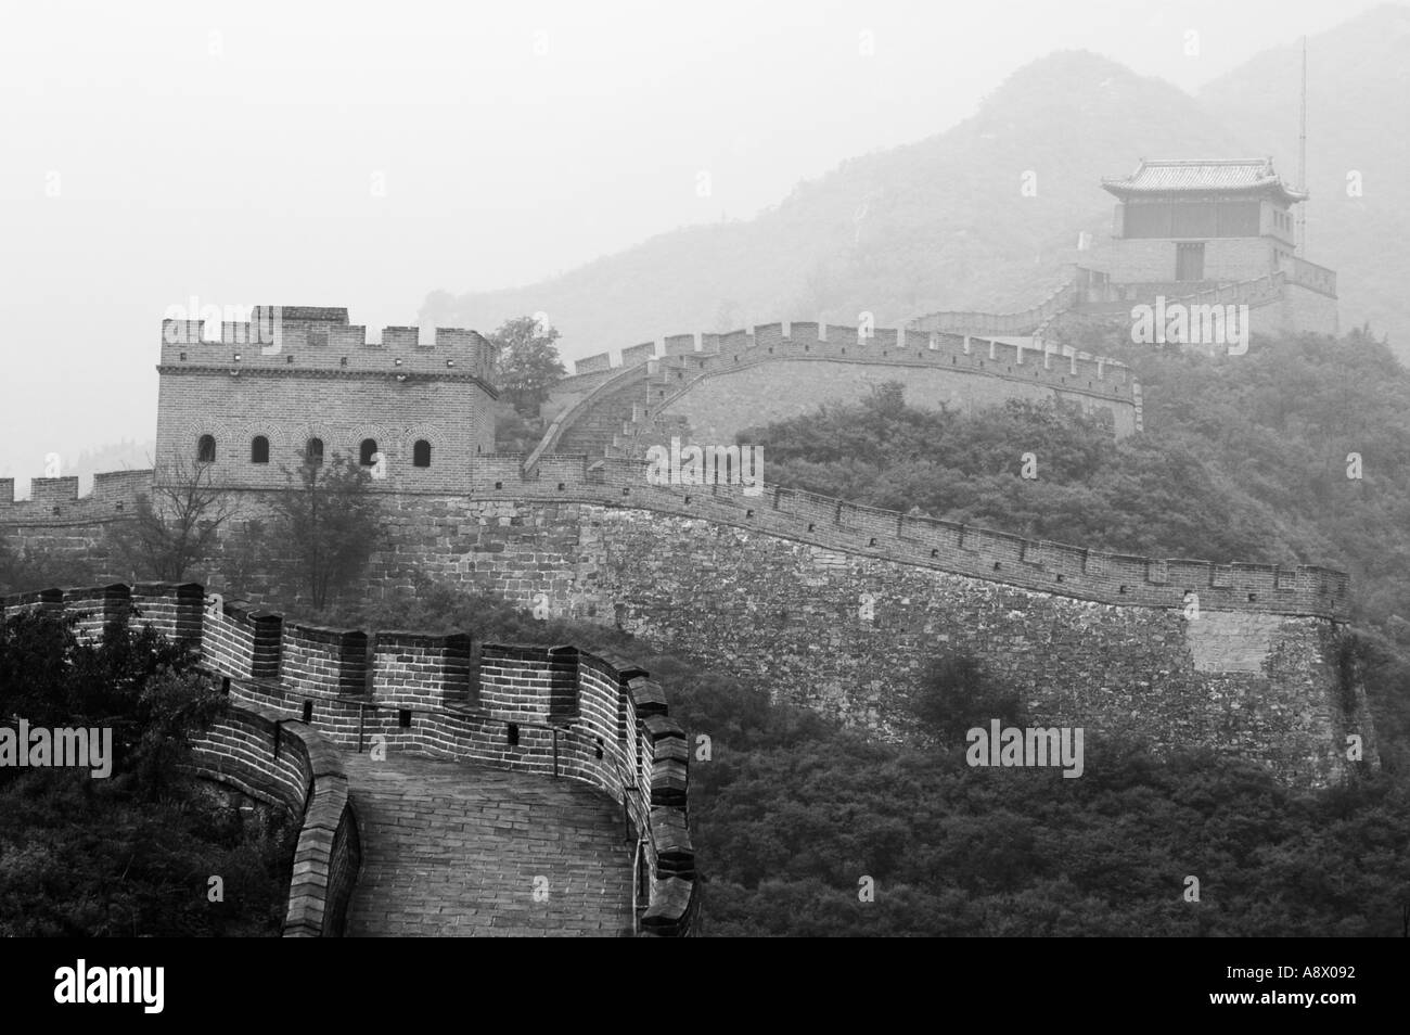
<svg viewBox="0 0 1410 1035">
<path fill-rule="evenodd" d="M 1273 305 L 1283 276 L 1189 298 Z M 646 343 L 622 350 L 616 367 L 591 357 L 556 386 L 527 455 L 485 447 L 498 393 L 474 331 L 437 329 L 423 344 L 419 329 L 389 327 L 376 343 L 345 310 L 306 309 L 285 310 L 303 321 L 268 343 L 248 324 L 203 338 L 199 321 L 166 321 L 158 471 L 209 441 L 202 463 L 237 502 L 238 527 L 268 518 L 285 484 L 285 464 L 271 458 L 293 460 L 313 440 L 320 455 L 324 444 L 357 454 L 361 443 L 386 467 L 372 482 L 388 537 L 372 554 L 368 595 L 431 580 L 616 625 L 883 736 L 912 736 L 931 663 L 964 656 L 1015 690 L 1034 721 L 1083 725 L 1089 743 L 1134 733 L 1158 752 L 1235 753 L 1306 787 L 1347 777 L 1352 736 L 1379 764 L 1348 661 L 1341 572 L 1132 557 L 778 486 L 752 495 L 646 475 L 646 448 L 668 437 L 732 443 L 746 427 L 819 399 L 857 400 L 888 381 L 901 381 L 912 405 L 1053 399 L 1100 416 L 1117 437 L 1141 433 L 1132 371 L 1048 336 L 1072 302 L 1063 289 L 1018 314 L 932 314 L 898 330 L 776 323 Z M 259 440 L 262 461 L 247 450 Z M 233 704 L 199 746 L 202 774 L 303 822 L 286 933 L 416 933 L 422 914 L 443 907 L 398 883 L 398 853 L 430 853 L 416 862 L 444 869 L 461 846 L 471 850 L 461 818 L 495 809 L 508 809 L 502 826 L 477 840 L 494 842 L 529 809 L 539 821 L 516 836 L 543 852 L 540 869 L 568 866 L 556 856 L 563 838 L 591 856 L 578 860 L 595 874 L 591 887 L 580 881 L 558 925 L 619 932 L 640 914 L 647 933 L 691 932 L 687 743 L 644 671 L 572 647 L 481 644 L 472 654 L 470 630 L 369 639 L 285 622 L 259 602 L 299 599 L 290 558 L 264 557 L 233 580 L 224 543 L 200 572 L 230 598 L 213 609 L 199 585 L 140 584 L 109 533 L 161 484 L 154 471 L 100 474 L 80 498 L 78 478 L 35 478 L 17 501 L 13 479 L 0 479 L 10 546 L 86 560 L 110 582 L 3 604 L 76 609 L 90 632 L 140 615 L 199 647 Z M 374 737 L 392 768 L 368 761 Z M 451 768 L 415 768 L 434 764 Z M 564 797 L 558 777 L 588 797 Z M 526 788 L 530 778 L 554 785 Z M 457 797 L 475 788 L 478 800 Z M 437 814 L 427 795 L 454 808 Z M 612 832 L 613 805 L 637 832 L 634 849 Z M 430 843 L 405 838 L 409 809 L 434 832 Z M 461 919 L 486 933 L 492 926 L 475 925 L 527 932 L 539 922 L 516 904 L 530 862 L 491 853 L 475 864 L 494 884 L 495 917 L 461 901 L 457 926 L 437 933 L 460 932 Z M 454 898 L 455 880 L 440 894 Z M 368 895 L 384 900 L 381 911 Z M 403 926 L 379 926 L 396 917 Z"/>
</svg>

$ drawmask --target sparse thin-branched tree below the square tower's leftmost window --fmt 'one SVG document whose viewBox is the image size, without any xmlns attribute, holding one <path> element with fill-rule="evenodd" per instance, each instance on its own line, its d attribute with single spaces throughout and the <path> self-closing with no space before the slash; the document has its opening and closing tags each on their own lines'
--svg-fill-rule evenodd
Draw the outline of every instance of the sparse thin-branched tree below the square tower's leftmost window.
<svg viewBox="0 0 1410 1035">
<path fill-rule="evenodd" d="M 178 458 L 138 496 L 134 519 L 110 526 L 113 553 L 140 577 L 179 582 L 210 557 L 237 509 L 212 464 Z"/>
</svg>

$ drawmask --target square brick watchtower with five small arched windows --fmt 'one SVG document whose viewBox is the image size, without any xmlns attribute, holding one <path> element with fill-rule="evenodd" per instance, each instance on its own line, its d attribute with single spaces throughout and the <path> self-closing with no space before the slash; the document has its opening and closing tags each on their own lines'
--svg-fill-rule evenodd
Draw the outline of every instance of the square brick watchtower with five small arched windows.
<svg viewBox="0 0 1410 1035">
<path fill-rule="evenodd" d="M 472 330 L 386 327 L 345 309 L 258 306 L 248 321 L 164 320 L 157 471 L 282 488 L 283 468 L 347 454 L 395 491 L 457 491 L 495 441 L 495 348 Z"/>
</svg>

